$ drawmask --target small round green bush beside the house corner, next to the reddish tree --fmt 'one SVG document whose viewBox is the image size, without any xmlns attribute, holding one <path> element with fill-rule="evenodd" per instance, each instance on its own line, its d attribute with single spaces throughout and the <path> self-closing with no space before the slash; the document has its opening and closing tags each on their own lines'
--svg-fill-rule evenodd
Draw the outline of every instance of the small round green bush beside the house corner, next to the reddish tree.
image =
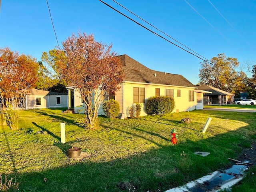
<svg viewBox="0 0 256 192">
<path fill-rule="evenodd" d="M 106 116 L 111 119 L 116 118 L 120 111 L 119 103 L 114 99 L 104 102 L 102 108 Z"/>
</svg>

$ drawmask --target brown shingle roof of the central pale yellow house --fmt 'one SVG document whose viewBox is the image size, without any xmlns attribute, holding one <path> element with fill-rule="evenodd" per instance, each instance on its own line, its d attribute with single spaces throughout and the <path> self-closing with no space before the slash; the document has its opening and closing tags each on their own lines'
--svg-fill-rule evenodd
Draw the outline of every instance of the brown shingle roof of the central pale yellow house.
<svg viewBox="0 0 256 192">
<path fill-rule="evenodd" d="M 120 55 L 119 57 L 126 75 L 124 81 L 196 87 L 182 75 L 151 70 L 128 55 Z"/>
</svg>

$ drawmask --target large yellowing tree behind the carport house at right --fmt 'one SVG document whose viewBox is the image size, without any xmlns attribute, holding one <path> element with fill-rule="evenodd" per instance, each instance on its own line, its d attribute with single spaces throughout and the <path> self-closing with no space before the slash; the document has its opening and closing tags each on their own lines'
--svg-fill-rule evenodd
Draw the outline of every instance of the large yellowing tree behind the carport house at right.
<svg viewBox="0 0 256 192">
<path fill-rule="evenodd" d="M 200 63 L 199 83 L 207 84 L 212 87 L 232 92 L 236 84 L 237 72 L 239 66 L 237 58 L 226 57 L 224 53 L 213 57 L 210 62 L 203 61 Z"/>
</svg>

